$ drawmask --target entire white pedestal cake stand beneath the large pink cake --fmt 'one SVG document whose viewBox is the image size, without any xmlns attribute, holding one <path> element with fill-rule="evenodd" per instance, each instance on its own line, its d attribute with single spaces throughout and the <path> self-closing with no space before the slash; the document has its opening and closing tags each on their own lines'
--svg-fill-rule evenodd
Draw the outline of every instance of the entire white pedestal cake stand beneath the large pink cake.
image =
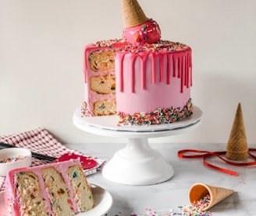
<svg viewBox="0 0 256 216">
<path fill-rule="evenodd" d="M 82 131 L 103 136 L 128 138 L 125 148 L 120 149 L 107 162 L 102 175 L 112 182 L 127 185 L 151 185 L 162 183 L 174 174 L 169 162 L 160 152 L 151 148 L 148 138 L 182 134 L 201 123 L 202 112 L 194 106 L 193 115 L 172 124 L 151 126 L 116 126 L 116 116 L 82 117 L 80 109 L 73 114 L 73 123 Z"/>
</svg>

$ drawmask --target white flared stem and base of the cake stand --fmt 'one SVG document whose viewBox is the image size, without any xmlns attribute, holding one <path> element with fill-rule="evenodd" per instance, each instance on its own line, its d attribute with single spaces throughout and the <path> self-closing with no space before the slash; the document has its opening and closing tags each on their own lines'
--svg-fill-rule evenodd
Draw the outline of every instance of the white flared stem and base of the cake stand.
<svg viewBox="0 0 256 216">
<path fill-rule="evenodd" d="M 106 163 L 102 174 L 116 183 L 151 185 L 170 179 L 174 170 L 160 152 L 151 148 L 148 138 L 128 138 L 126 147 Z"/>
</svg>

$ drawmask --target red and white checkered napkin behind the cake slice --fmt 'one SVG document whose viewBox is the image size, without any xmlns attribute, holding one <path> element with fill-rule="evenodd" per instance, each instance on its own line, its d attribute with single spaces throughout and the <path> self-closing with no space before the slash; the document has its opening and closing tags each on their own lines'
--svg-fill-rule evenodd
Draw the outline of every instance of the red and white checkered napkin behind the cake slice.
<svg viewBox="0 0 256 216">
<path fill-rule="evenodd" d="M 7 143 L 9 145 L 14 145 L 16 147 L 28 148 L 31 152 L 37 152 L 42 155 L 49 155 L 55 158 L 59 158 L 65 153 L 75 153 L 76 155 L 84 155 L 73 149 L 66 148 L 64 145 L 60 144 L 48 131 L 44 128 L 38 127 L 32 131 L 26 131 L 20 134 L 10 134 L 0 136 L 0 142 Z M 84 155 L 89 156 L 89 155 Z M 91 157 L 91 155 L 90 155 Z M 101 165 L 105 162 L 102 159 L 93 158 L 97 162 L 97 166 L 92 169 L 86 169 L 85 174 L 87 176 L 97 172 Z M 47 160 L 41 160 L 32 158 L 32 165 L 44 165 L 49 163 Z M 3 190 L 3 183 L 5 177 L 0 176 L 0 192 Z"/>
</svg>

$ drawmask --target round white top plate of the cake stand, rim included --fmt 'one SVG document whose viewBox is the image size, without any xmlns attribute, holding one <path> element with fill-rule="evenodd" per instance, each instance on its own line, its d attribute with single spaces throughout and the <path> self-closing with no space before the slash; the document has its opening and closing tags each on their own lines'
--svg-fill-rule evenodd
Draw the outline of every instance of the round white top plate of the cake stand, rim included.
<svg viewBox="0 0 256 216">
<path fill-rule="evenodd" d="M 73 114 L 73 124 L 82 131 L 92 134 L 124 138 L 156 138 L 181 134 L 192 130 L 201 123 L 202 111 L 194 106 L 193 114 L 171 124 L 118 126 L 116 115 L 103 117 L 84 117 L 80 108 Z"/>
</svg>

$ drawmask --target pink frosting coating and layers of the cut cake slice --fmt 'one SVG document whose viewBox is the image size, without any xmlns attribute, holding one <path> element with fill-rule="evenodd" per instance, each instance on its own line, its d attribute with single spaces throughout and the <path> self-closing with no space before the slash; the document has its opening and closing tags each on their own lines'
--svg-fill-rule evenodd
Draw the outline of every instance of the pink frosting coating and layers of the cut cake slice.
<svg viewBox="0 0 256 216">
<path fill-rule="evenodd" d="M 79 212 L 76 206 L 76 202 L 73 199 L 74 194 L 73 194 L 73 190 L 71 189 L 72 187 L 70 185 L 69 177 L 66 175 L 66 172 L 69 166 L 76 165 L 76 164 L 80 164 L 80 162 L 78 160 L 69 160 L 66 162 L 58 162 L 58 163 L 52 163 L 48 165 L 39 165 L 39 166 L 30 167 L 30 168 L 12 169 L 8 173 L 5 179 L 5 203 L 8 205 L 9 212 L 11 212 L 12 215 L 20 215 L 19 204 L 18 204 L 19 197 L 17 197 L 17 194 L 16 194 L 14 176 L 16 175 L 17 172 L 30 171 L 30 172 L 34 172 L 34 174 L 37 175 L 38 182 L 41 186 L 41 196 L 44 198 L 46 210 L 49 212 L 49 215 L 52 215 L 51 204 L 50 204 L 50 201 L 48 200 L 48 193 L 45 190 L 44 179 L 41 176 L 41 169 L 48 168 L 48 167 L 54 167 L 58 172 L 62 174 L 62 177 L 66 183 L 66 188 L 67 190 L 69 190 L 69 196 L 70 196 L 71 203 L 73 205 L 73 210 L 76 213 Z"/>
</svg>

